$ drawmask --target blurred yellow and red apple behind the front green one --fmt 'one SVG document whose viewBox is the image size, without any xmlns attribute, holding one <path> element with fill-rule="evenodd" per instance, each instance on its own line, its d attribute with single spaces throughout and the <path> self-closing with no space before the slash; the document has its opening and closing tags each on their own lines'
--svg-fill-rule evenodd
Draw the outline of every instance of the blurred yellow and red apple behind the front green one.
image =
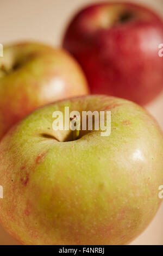
<svg viewBox="0 0 163 256">
<path fill-rule="evenodd" d="M 88 93 L 83 71 L 63 50 L 24 42 L 4 47 L 0 58 L 0 139 L 37 107 Z"/>
</svg>

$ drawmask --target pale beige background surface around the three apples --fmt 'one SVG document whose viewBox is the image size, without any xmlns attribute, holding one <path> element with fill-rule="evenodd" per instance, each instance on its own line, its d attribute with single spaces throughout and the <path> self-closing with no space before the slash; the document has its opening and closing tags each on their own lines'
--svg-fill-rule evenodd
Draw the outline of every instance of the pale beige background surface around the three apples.
<svg viewBox="0 0 163 256">
<path fill-rule="evenodd" d="M 0 0 L 0 43 L 9 44 L 11 42 L 33 40 L 59 46 L 67 22 L 72 15 L 81 7 L 92 2 L 103 1 Z M 151 6 L 153 10 L 157 10 L 163 17 L 163 0 L 133 0 L 133 2 L 145 3 Z M 146 107 L 159 121 L 163 130 L 163 92 Z M 131 244 L 163 245 L 163 204 L 153 222 Z M 0 245 L 18 245 L 1 226 Z"/>
</svg>

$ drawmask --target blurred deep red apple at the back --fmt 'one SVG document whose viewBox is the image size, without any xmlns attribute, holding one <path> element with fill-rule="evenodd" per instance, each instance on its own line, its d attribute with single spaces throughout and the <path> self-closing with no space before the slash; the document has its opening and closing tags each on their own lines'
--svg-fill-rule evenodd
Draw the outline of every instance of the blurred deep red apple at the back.
<svg viewBox="0 0 163 256">
<path fill-rule="evenodd" d="M 63 46 L 85 71 L 91 93 L 145 105 L 163 88 L 162 20 L 130 3 L 102 3 L 80 11 L 66 29 Z"/>
</svg>

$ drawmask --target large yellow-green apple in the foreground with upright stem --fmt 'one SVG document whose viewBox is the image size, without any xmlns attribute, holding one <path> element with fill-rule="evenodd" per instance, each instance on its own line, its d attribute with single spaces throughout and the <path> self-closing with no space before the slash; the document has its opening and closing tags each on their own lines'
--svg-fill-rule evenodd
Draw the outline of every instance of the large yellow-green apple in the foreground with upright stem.
<svg viewBox="0 0 163 256">
<path fill-rule="evenodd" d="M 54 131 L 52 113 L 111 111 L 111 134 Z M 82 131 L 81 131 L 82 133 Z M 163 137 L 133 102 L 87 95 L 36 109 L 0 144 L 3 227 L 24 245 L 124 245 L 159 208 Z"/>
</svg>

